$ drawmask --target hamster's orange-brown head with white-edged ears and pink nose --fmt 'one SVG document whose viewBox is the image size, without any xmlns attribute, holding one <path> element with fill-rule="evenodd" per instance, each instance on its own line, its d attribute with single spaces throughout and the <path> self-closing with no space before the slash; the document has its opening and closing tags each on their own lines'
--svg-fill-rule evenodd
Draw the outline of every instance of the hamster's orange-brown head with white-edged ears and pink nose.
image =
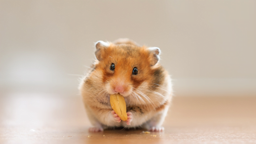
<svg viewBox="0 0 256 144">
<path fill-rule="evenodd" d="M 143 82 L 154 79 L 160 49 L 133 44 L 95 43 L 95 77 L 109 94 L 129 96 Z"/>
</svg>

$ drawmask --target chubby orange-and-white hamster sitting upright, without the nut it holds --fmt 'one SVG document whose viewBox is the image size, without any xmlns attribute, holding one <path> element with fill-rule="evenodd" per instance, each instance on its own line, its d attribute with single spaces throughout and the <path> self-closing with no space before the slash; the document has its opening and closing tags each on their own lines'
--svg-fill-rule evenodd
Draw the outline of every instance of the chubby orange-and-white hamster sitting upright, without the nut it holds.
<svg viewBox="0 0 256 144">
<path fill-rule="evenodd" d="M 158 47 L 139 46 L 129 39 L 95 43 L 96 60 L 79 90 L 91 132 L 105 128 L 144 128 L 163 131 L 172 98 L 168 72 L 159 64 Z M 128 119 L 120 120 L 111 108 L 110 94 L 125 98 Z"/>
</svg>

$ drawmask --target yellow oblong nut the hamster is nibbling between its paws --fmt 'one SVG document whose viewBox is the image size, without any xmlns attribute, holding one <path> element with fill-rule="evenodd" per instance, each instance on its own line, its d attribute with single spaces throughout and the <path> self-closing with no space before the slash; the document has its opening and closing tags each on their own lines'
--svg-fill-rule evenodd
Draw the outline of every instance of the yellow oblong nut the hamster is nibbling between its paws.
<svg viewBox="0 0 256 144">
<path fill-rule="evenodd" d="M 110 104 L 111 108 L 115 111 L 115 113 L 120 117 L 121 120 L 127 120 L 127 113 L 126 113 L 126 104 L 125 98 L 118 94 L 111 94 L 110 95 Z"/>
</svg>

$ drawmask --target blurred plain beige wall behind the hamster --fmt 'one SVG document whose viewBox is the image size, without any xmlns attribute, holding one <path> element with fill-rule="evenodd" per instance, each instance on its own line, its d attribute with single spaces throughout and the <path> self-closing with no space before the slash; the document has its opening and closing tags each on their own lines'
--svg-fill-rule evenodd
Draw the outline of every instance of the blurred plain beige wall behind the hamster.
<svg viewBox="0 0 256 144">
<path fill-rule="evenodd" d="M 124 37 L 162 50 L 176 95 L 256 95 L 254 0 L 0 0 L 1 89 L 77 93 L 93 42 Z"/>
</svg>

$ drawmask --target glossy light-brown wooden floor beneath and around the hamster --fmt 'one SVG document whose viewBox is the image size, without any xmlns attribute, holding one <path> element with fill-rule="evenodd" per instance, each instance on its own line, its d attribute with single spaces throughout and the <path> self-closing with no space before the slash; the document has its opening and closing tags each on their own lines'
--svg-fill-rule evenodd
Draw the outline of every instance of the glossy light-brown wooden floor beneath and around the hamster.
<svg viewBox="0 0 256 144">
<path fill-rule="evenodd" d="M 0 143 L 256 143 L 256 97 L 173 98 L 164 132 L 89 133 L 81 98 L 2 93 Z"/>
</svg>

